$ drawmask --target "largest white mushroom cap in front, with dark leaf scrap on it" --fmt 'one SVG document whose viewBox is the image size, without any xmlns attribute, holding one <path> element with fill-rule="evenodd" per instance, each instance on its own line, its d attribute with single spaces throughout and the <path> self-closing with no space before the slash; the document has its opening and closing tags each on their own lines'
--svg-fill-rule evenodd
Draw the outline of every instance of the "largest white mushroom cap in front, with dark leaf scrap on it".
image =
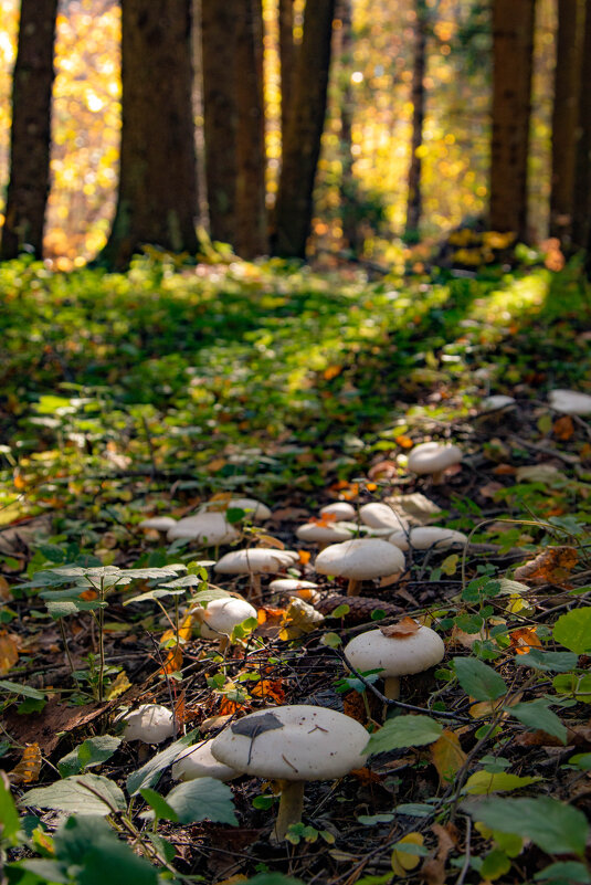
<svg viewBox="0 0 591 885">
<path fill-rule="evenodd" d="M 342 713 L 310 704 L 251 713 L 214 738 L 215 759 L 238 771 L 282 780 L 330 780 L 365 765 L 369 736 Z"/>
</svg>

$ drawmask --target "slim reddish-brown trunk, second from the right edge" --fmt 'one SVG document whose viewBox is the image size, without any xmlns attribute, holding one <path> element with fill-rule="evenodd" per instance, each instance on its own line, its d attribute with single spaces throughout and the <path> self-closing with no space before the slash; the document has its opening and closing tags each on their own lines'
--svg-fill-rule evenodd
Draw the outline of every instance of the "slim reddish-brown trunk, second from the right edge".
<svg viewBox="0 0 591 885">
<path fill-rule="evenodd" d="M 568 244 L 574 182 L 580 54 L 579 0 L 558 0 L 555 98 L 552 108 L 552 172 L 550 236 Z M 589 83 L 584 85 L 589 88 Z"/>
</svg>

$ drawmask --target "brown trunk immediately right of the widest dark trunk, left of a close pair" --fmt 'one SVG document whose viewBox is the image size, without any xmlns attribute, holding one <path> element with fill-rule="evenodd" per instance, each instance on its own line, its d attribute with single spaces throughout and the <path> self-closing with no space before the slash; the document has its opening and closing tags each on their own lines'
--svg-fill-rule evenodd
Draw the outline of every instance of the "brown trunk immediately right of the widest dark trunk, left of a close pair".
<svg viewBox="0 0 591 885">
<path fill-rule="evenodd" d="M 236 0 L 201 0 L 205 177 L 212 240 L 234 244 Z"/>
</svg>

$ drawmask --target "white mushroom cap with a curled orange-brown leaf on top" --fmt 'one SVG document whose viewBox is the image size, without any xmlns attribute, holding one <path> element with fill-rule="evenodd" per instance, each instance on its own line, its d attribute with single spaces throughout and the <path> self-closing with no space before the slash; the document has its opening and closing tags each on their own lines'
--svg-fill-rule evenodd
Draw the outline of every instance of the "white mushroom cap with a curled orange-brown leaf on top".
<svg viewBox="0 0 591 885">
<path fill-rule="evenodd" d="M 442 638 L 429 626 L 408 636 L 384 636 L 369 630 L 355 636 L 344 649 L 347 660 L 361 673 L 381 668 L 388 676 L 410 676 L 439 664 L 445 654 Z"/>
</svg>

